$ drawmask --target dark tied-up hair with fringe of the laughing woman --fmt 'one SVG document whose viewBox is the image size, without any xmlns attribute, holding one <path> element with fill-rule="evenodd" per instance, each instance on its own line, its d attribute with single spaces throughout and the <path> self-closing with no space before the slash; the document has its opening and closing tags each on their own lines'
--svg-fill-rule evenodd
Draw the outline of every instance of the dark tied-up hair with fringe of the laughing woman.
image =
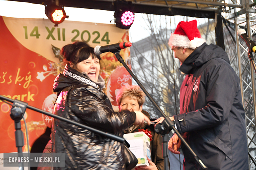
<svg viewBox="0 0 256 170">
<path fill-rule="evenodd" d="M 65 45 L 62 47 L 60 54 L 63 55 L 65 63 L 73 62 L 74 65 L 88 59 L 91 55 L 93 59 L 97 58 L 101 60 L 99 55 L 94 53 L 93 47 L 90 47 L 86 42 L 76 41 L 72 44 Z"/>
</svg>

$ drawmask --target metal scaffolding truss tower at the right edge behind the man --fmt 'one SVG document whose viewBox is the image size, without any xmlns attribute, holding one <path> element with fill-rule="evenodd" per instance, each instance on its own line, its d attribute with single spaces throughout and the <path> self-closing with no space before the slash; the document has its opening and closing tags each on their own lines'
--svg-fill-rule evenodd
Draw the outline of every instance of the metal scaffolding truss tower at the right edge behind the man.
<svg viewBox="0 0 256 170">
<path fill-rule="evenodd" d="M 247 29 L 247 35 L 252 38 L 255 35 L 255 7 L 254 3 L 248 0 L 241 0 L 242 8 L 234 8 L 226 19 L 235 24 L 235 33 L 239 28 Z M 251 61 L 248 58 L 248 47 L 243 40 L 235 35 L 237 48 L 237 63 L 240 77 L 243 105 L 245 109 L 246 132 L 248 142 L 249 169 L 256 168 L 256 96 L 255 96 L 255 72 Z M 252 38 L 253 39 L 253 38 Z M 252 62 L 254 62 L 252 60 Z"/>
</svg>

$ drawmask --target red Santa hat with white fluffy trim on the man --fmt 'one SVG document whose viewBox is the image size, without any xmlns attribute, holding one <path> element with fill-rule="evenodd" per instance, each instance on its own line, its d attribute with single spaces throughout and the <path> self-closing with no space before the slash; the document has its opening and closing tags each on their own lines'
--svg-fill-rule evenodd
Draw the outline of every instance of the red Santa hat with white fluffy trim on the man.
<svg viewBox="0 0 256 170">
<path fill-rule="evenodd" d="M 176 47 L 195 49 L 201 46 L 205 40 L 197 29 L 197 21 L 181 21 L 169 39 L 169 45 Z"/>
</svg>

